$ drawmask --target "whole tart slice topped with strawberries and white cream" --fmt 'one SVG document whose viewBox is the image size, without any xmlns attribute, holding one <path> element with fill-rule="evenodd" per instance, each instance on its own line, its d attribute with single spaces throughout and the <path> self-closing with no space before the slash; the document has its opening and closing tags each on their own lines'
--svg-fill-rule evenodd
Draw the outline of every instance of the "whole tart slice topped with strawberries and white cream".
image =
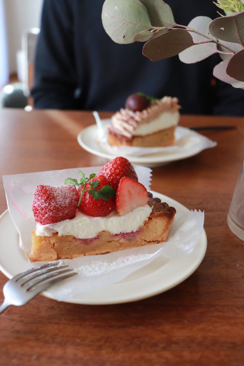
<svg viewBox="0 0 244 366">
<path fill-rule="evenodd" d="M 88 178 L 37 186 L 31 261 L 73 259 L 164 242 L 175 209 L 153 198 L 130 162 L 118 157 Z"/>
</svg>

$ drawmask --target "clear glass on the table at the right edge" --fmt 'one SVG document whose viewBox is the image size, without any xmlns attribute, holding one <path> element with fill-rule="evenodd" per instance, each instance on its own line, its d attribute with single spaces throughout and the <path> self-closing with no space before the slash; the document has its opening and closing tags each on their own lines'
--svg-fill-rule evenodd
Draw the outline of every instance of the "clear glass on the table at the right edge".
<svg viewBox="0 0 244 366">
<path fill-rule="evenodd" d="M 227 223 L 230 230 L 244 240 L 244 160 L 230 204 Z"/>
</svg>

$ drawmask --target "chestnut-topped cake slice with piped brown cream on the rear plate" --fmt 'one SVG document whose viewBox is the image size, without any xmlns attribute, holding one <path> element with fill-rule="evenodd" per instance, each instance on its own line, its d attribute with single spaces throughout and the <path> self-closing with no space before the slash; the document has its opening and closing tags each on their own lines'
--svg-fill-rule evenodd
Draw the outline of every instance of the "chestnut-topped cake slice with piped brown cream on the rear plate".
<svg viewBox="0 0 244 366">
<path fill-rule="evenodd" d="M 174 143 L 180 113 L 177 98 L 156 99 L 143 93 L 130 95 L 125 109 L 112 116 L 108 127 L 111 146 L 156 147 Z"/>
</svg>

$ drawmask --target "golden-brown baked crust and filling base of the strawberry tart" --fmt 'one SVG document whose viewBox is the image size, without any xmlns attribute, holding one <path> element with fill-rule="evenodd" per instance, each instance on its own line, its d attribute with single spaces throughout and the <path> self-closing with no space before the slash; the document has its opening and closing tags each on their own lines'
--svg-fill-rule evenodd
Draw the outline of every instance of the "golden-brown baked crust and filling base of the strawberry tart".
<svg viewBox="0 0 244 366">
<path fill-rule="evenodd" d="M 175 209 L 152 198 L 149 198 L 148 204 L 152 207 L 152 212 L 136 232 L 111 234 L 108 231 L 101 231 L 95 238 L 78 239 L 72 235 L 59 236 L 58 233 L 52 236 L 37 236 L 33 231 L 29 259 L 31 261 L 73 259 L 83 255 L 105 254 L 165 242 L 174 221 Z"/>
</svg>

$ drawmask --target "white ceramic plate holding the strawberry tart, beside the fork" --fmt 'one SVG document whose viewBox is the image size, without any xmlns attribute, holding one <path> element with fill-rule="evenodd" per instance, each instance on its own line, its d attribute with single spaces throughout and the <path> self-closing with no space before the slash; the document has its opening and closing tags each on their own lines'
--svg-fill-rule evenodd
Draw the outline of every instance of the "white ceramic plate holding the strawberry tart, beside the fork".
<svg viewBox="0 0 244 366">
<path fill-rule="evenodd" d="M 185 209 L 177 201 L 160 193 L 151 192 L 154 197 L 159 197 L 162 202 L 167 202 L 170 206 L 175 207 L 177 212 Z M 203 230 L 201 239 L 187 257 L 174 260 L 157 258 L 119 283 L 81 294 L 67 300 L 67 302 L 107 305 L 136 301 L 160 294 L 191 276 L 202 262 L 206 248 L 207 237 Z M 6 210 L 0 216 L 0 270 L 5 276 L 12 278 L 27 268 L 30 268 L 29 261 L 19 248 L 19 234 L 12 223 L 8 210 Z M 51 297 L 47 291 L 43 292 L 42 295 Z"/>
</svg>

